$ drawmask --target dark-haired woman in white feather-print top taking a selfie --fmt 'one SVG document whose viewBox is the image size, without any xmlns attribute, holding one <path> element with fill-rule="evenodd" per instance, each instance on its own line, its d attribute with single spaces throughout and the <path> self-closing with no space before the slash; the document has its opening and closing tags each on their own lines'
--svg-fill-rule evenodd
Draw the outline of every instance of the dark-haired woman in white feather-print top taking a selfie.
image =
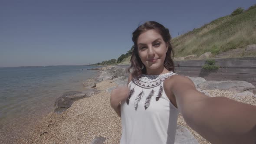
<svg viewBox="0 0 256 144">
<path fill-rule="evenodd" d="M 133 33 L 128 88 L 112 91 L 120 144 L 174 144 L 177 116 L 212 144 L 256 144 L 256 107 L 197 91 L 174 73 L 169 30 L 149 21 Z"/>
</svg>

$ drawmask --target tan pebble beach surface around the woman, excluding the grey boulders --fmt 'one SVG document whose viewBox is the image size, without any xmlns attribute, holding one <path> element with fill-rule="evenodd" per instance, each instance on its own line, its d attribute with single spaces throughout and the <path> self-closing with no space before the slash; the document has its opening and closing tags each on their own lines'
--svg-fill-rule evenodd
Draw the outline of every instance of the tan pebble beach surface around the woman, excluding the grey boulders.
<svg viewBox="0 0 256 144">
<path fill-rule="evenodd" d="M 121 118 L 110 106 L 110 93 L 106 89 L 116 86 L 112 80 L 102 81 L 96 88 L 99 93 L 75 101 L 72 107 L 62 114 L 50 113 L 34 128 L 30 129 L 28 137 L 18 139 L 17 143 L 37 144 L 90 144 L 95 137 L 105 137 L 104 144 L 118 144 L 121 138 Z M 214 96 L 231 98 L 233 100 L 256 105 L 254 96 L 234 96 L 236 92 L 207 90 Z M 200 144 L 210 144 L 207 140 L 192 130 L 182 118 L 178 124 L 189 129 Z"/>
</svg>

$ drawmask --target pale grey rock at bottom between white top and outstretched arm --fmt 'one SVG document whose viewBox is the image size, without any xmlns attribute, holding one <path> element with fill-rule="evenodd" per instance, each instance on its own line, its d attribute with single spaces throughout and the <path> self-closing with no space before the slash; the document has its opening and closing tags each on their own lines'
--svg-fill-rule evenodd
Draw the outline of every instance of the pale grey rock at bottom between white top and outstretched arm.
<svg viewBox="0 0 256 144">
<path fill-rule="evenodd" d="M 199 144 L 199 143 L 187 128 L 181 125 L 177 125 L 174 144 Z"/>
</svg>

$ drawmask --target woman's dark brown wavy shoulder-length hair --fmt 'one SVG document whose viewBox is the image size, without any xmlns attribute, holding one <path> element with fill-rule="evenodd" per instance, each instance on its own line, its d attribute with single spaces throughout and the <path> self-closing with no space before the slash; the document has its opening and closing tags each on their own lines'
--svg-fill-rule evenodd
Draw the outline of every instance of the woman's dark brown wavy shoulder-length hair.
<svg viewBox="0 0 256 144">
<path fill-rule="evenodd" d="M 171 46 L 171 35 L 169 32 L 169 29 L 165 28 L 163 25 L 161 25 L 158 22 L 155 21 L 148 21 L 142 25 L 140 25 L 133 33 L 132 33 L 132 41 L 134 43 L 134 49 L 131 54 L 131 66 L 128 69 L 132 70 L 131 75 L 132 77 L 140 77 L 141 74 L 146 74 L 147 70 L 145 68 L 145 65 L 141 62 L 141 59 L 138 54 L 138 37 L 141 35 L 141 33 L 144 33 L 147 30 L 150 29 L 157 29 L 159 34 L 162 36 L 164 39 L 164 42 L 168 44 L 168 50 L 166 52 L 166 57 L 164 60 L 164 67 L 169 70 L 174 72 L 174 62 L 171 59 L 171 53 L 174 56 L 174 51 Z"/>
</svg>

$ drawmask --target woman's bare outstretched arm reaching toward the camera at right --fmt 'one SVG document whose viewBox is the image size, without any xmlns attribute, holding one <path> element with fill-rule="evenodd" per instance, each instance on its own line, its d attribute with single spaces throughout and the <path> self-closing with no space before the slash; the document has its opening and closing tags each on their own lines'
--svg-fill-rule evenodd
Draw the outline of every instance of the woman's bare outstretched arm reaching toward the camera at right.
<svg viewBox="0 0 256 144">
<path fill-rule="evenodd" d="M 174 75 L 171 90 L 187 124 L 212 144 L 256 144 L 256 106 L 208 97 Z"/>
</svg>

